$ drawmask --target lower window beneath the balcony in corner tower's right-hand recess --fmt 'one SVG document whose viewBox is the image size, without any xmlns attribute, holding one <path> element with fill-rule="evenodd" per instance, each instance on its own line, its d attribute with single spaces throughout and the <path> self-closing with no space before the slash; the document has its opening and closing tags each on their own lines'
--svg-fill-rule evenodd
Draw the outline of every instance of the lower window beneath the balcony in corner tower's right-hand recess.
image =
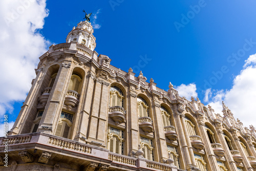
<svg viewBox="0 0 256 171">
<path fill-rule="evenodd" d="M 61 115 L 57 124 L 57 128 L 55 131 L 55 135 L 63 138 L 69 138 L 71 126 L 72 126 L 72 120 L 73 120 L 72 114 L 61 112 Z"/>
</svg>

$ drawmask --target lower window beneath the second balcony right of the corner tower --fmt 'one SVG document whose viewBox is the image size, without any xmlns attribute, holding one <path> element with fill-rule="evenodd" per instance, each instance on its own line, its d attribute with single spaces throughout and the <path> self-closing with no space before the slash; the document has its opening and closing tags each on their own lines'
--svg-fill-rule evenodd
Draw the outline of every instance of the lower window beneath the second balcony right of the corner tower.
<svg viewBox="0 0 256 171">
<path fill-rule="evenodd" d="M 143 157 L 147 160 L 154 161 L 153 141 L 145 137 L 140 137 L 140 144 L 144 152 Z"/>
</svg>

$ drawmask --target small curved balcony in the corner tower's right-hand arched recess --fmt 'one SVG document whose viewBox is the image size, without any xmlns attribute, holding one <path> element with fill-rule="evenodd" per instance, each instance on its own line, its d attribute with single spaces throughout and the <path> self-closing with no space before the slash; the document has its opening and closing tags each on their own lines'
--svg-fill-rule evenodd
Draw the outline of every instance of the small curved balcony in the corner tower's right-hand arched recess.
<svg viewBox="0 0 256 171">
<path fill-rule="evenodd" d="M 68 106 L 68 110 L 71 110 L 79 103 L 79 97 L 80 95 L 76 91 L 67 91 L 64 104 Z"/>
</svg>

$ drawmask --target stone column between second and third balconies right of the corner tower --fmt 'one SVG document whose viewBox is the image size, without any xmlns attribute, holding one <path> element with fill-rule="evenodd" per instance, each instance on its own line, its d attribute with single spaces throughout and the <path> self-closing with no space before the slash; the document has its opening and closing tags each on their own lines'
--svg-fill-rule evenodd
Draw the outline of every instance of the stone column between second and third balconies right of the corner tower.
<svg viewBox="0 0 256 171">
<path fill-rule="evenodd" d="M 163 162 L 163 160 L 168 159 L 168 150 L 167 150 L 167 145 L 166 145 L 166 140 L 165 140 L 165 135 L 164 135 L 164 130 L 163 130 L 163 121 L 162 121 L 162 116 L 161 116 L 161 110 L 160 110 L 161 105 L 158 102 L 154 102 L 154 108 L 153 108 L 153 115 L 155 123 L 155 136 L 156 136 L 156 146 L 158 148 L 158 156 L 159 156 L 159 162 Z"/>
</svg>

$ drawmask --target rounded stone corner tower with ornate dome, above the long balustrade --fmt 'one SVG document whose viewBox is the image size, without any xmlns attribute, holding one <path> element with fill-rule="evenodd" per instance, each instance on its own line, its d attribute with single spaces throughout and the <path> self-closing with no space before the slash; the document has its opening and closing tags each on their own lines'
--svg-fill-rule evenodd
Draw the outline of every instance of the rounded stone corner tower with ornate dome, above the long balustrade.
<svg viewBox="0 0 256 171">
<path fill-rule="evenodd" d="M 98 56 L 95 40 L 91 23 L 80 22 L 65 43 L 52 45 L 39 57 L 36 78 L 9 135 L 44 132 L 82 142 L 84 137 L 91 137 L 91 142 L 105 144 L 105 120 L 97 121 L 101 125 L 100 138 L 95 137 L 99 135 L 97 124 L 93 124 L 96 130 L 87 130 L 95 122 L 87 115 L 102 113 L 107 117 L 108 110 L 108 105 L 102 107 L 98 101 L 108 104 L 108 97 L 101 97 L 99 92 L 108 92 L 109 83 L 97 76 L 101 66 L 109 67 L 111 59 Z"/>
</svg>

